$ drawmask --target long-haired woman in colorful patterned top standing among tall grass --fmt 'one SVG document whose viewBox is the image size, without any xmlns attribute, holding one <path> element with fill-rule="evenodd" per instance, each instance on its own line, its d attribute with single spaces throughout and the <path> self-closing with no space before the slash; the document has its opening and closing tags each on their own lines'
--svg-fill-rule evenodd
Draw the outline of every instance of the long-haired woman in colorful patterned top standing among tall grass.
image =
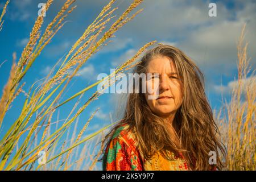
<svg viewBox="0 0 256 182">
<path fill-rule="evenodd" d="M 146 52 L 134 73 L 158 73 L 146 80 L 158 93 L 129 94 L 123 119 L 106 135 L 103 169 L 221 169 L 225 147 L 216 137 L 204 77 L 195 63 L 176 47 L 159 45 Z"/>
</svg>

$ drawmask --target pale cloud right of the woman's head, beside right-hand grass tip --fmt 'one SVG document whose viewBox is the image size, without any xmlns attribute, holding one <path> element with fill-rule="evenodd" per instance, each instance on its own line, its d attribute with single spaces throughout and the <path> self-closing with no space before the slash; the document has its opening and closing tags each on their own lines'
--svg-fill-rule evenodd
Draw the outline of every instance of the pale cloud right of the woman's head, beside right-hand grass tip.
<svg viewBox="0 0 256 182">
<path fill-rule="evenodd" d="M 201 64 L 205 61 L 208 65 L 221 63 L 236 66 L 236 44 L 243 23 L 242 21 L 230 22 L 224 20 L 209 27 L 202 27 L 200 30 L 193 32 L 188 39 L 180 42 L 178 46 L 197 63 Z M 247 34 L 246 38 L 253 40 L 253 34 Z M 249 45 L 251 48 L 255 46 L 255 43 Z M 229 70 L 226 71 L 229 72 Z"/>
</svg>

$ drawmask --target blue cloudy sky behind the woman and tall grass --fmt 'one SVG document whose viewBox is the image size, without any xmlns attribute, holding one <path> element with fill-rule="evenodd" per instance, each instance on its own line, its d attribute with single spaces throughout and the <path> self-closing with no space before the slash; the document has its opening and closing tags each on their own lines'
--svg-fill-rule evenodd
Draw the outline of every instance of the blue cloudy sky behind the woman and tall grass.
<svg viewBox="0 0 256 182">
<path fill-rule="evenodd" d="M 5 1 L 0 1 L 2 9 Z M 28 41 L 31 28 L 38 14 L 38 4 L 43 0 L 11 0 L 7 13 L 4 16 L 5 23 L 0 32 L 0 88 L 6 84 L 9 76 L 12 54 L 16 52 L 19 58 Z M 77 8 L 68 16 L 68 22 L 58 32 L 51 43 L 47 45 L 30 71 L 24 77 L 26 82 L 24 91 L 27 92 L 30 85 L 47 75 L 57 60 L 59 60 L 73 43 L 80 38 L 86 27 L 93 22 L 102 7 L 109 1 L 77 0 Z M 117 15 L 121 14 L 132 1 L 117 0 Z M 209 17 L 208 5 L 215 2 L 217 5 L 217 17 Z M 46 14 L 44 27 L 60 10 L 64 1 L 56 0 Z M 230 90 L 236 84 L 234 77 L 237 75 L 236 43 L 240 36 L 243 24 L 246 22 L 246 40 L 249 42 L 249 56 L 252 68 L 255 69 L 256 57 L 256 2 L 255 1 L 168 1 L 146 0 L 138 8 L 143 8 L 134 20 L 127 23 L 116 34 L 116 38 L 109 46 L 103 48 L 81 68 L 80 76 L 77 76 L 64 98 L 72 93 L 92 84 L 97 80 L 99 73 L 110 73 L 110 68 L 131 58 L 144 44 L 157 40 L 161 43 L 174 45 L 199 65 L 205 76 L 205 93 L 213 109 L 221 105 L 221 90 L 224 97 L 229 99 Z M 138 9 L 137 9 L 138 10 Z M 81 102 L 96 90 L 94 88 L 82 97 Z M 23 105 L 24 95 L 20 94 L 14 101 L 9 113 L 6 114 L 0 137 L 6 129 L 18 117 Z M 63 101 L 64 101 L 63 98 Z M 80 116 L 79 128 L 89 118 L 89 115 L 101 107 L 96 117 L 89 125 L 88 133 L 100 129 L 101 126 L 110 123 L 110 114 L 115 115 L 119 107 L 116 94 L 105 94 L 99 100 L 93 102 Z M 67 117 L 75 101 L 60 109 L 60 119 Z M 56 119 L 56 117 L 55 117 Z M 86 135 L 85 134 L 85 135 Z"/>
</svg>

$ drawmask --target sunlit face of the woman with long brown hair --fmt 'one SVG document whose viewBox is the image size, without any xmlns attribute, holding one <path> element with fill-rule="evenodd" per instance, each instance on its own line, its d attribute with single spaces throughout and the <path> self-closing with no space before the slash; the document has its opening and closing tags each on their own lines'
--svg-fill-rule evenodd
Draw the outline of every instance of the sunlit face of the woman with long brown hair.
<svg viewBox="0 0 256 182">
<path fill-rule="evenodd" d="M 172 114 L 175 115 L 182 104 L 183 85 L 177 77 L 173 61 L 167 56 L 155 57 L 148 63 L 147 73 L 159 74 L 159 77 L 152 75 L 152 78 L 147 79 L 147 88 L 148 86 L 152 86 L 152 89 L 155 88 L 154 92 L 145 94 L 151 111 L 163 118 L 170 117 Z M 157 82 L 156 85 L 155 82 Z M 156 89 L 158 89 L 159 94 Z"/>
</svg>

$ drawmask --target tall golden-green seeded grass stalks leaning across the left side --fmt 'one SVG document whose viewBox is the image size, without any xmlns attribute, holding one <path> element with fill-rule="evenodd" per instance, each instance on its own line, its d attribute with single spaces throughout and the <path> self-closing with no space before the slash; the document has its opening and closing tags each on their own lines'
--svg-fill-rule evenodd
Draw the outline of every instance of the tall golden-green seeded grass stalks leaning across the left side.
<svg viewBox="0 0 256 182">
<path fill-rule="evenodd" d="M 47 1 L 45 11 L 48 11 L 52 2 L 52 0 Z M 47 169 L 48 166 L 46 167 L 46 165 L 52 164 L 53 162 L 55 165 L 53 167 L 50 166 L 48 169 L 70 169 L 72 168 L 70 163 L 73 151 L 75 151 L 74 149 L 82 143 L 88 142 L 89 139 L 97 137 L 98 134 L 102 133 L 102 131 L 110 126 L 106 126 L 96 133 L 81 138 L 96 110 L 92 116 L 89 117 L 77 137 L 73 136 L 72 139 L 68 138 L 72 124 L 79 118 L 79 115 L 91 102 L 101 96 L 104 90 L 103 88 L 102 90 L 97 90 L 87 101 L 82 103 L 81 107 L 77 108 L 79 102 L 82 101 L 81 97 L 84 93 L 100 82 L 113 78 L 115 74 L 133 67 L 135 64 L 134 61 L 137 60 L 141 53 L 155 42 L 145 44 L 131 59 L 120 65 L 112 75 L 87 86 L 78 93 L 73 93 L 73 96 L 65 101 L 61 101 L 60 98 L 68 89 L 72 78 L 77 74 L 82 65 L 84 65 L 92 55 L 100 51 L 102 47 L 107 46 L 110 42 L 109 39 L 114 37 L 114 33 L 119 30 L 119 28 L 142 11 L 142 9 L 140 9 L 134 14 L 131 14 L 131 11 L 142 3 L 142 0 L 134 0 L 122 15 L 120 15 L 114 23 L 110 24 L 110 20 L 115 18 L 115 15 L 113 15 L 114 11 L 117 10 L 117 7 L 112 7 L 114 2 L 115 0 L 110 1 L 108 5 L 101 10 L 97 18 L 86 28 L 76 43 L 73 44 L 67 55 L 64 56 L 64 59 L 56 61 L 55 67 L 53 67 L 46 78 L 43 78 L 42 84 L 39 86 L 36 86 L 36 83 L 29 85 L 30 90 L 28 93 L 25 93 L 26 100 L 23 103 L 22 111 L 16 121 L 14 121 L 6 131 L 3 138 L 1 138 L 0 170 Z M 6 2 L 6 6 L 8 3 L 9 1 Z M 7 122 L 5 121 L 5 115 L 7 111 L 9 111 L 10 105 L 14 102 L 15 97 L 18 96 L 19 93 L 24 92 L 24 83 L 22 83 L 24 76 L 26 76 L 26 73 L 31 68 L 32 64 L 34 64 L 44 47 L 49 44 L 53 36 L 64 26 L 66 23 L 64 21 L 65 18 L 76 8 L 74 4 L 75 0 L 65 1 L 59 13 L 57 13 L 51 23 L 47 25 L 45 30 L 42 30 L 44 16 L 38 16 L 36 18 L 27 46 L 24 47 L 18 63 L 13 64 L 9 80 L 3 89 L 0 107 L 0 127 L 3 122 Z M 3 14 L 5 13 L 5 9 L 3 10 Z M 110 24 L 110 26 L 106 28 L 108 24 Z M 69 106 L 72 110 L 68 117 L 65 118 L 64 122 L 52 122 L 53 114 L 55 114 L 58 109 L 61 109 L 60 106 L 70 104 L 71 102 L 69 101 L 74 100 L 78 96 L 79 98 L 76 104 Z M 61 123 L 61 125 L 56 126 L 55 130 L 53 130 L 51 129 L 53 123 Z M 76 134 L 74 131 L 72 133 Z M 67 140 L 63 142 L 61 139 L 65 135 L 67 135 Z M 62 146 L 61 151 L 57 150 L 59 146 Z M 42 150 L 46 151 L 47 156 L 50 156 L 50 158 L 47 158 L 46 164 L 37 165 L 36 160 L 39 158 L 38 154 Z M 88 148 L 82 149 L 82 151 L 84 150 L 88 150 Z M 98 156 L 98 154 L 96 154 L 96 156 Z M 82 158 L 79 158 L 75 163 L 77 167 L 81 164 L 80 160 L 82 160 Z M 88 168 L 92 169 L 95 166 L 95 159 L 91 158 L 90 160 L 92 161 L 92 166 Z"/>
</svg>

